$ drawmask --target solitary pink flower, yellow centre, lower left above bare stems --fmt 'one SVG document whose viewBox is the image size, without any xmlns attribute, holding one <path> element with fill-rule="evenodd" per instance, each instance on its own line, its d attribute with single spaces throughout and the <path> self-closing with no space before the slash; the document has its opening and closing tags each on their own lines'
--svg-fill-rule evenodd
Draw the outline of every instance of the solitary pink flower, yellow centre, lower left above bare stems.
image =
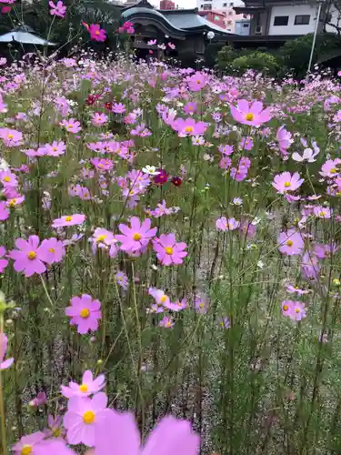
<svg viewBox="0 0 341 455">
<path fill-rule="evenodd" d="M 70 303 L 71 307 L 65 308 L 65 315 L 71 317 L 70 325 L 78 326 L 78 333 L 84 335 L 89 330 L 98 329 L 98 320 L 102 318 L 99 300 L 93 300 L 91 296 L 83 294 L 82 297 L 71 298 Z"/>
</svg>

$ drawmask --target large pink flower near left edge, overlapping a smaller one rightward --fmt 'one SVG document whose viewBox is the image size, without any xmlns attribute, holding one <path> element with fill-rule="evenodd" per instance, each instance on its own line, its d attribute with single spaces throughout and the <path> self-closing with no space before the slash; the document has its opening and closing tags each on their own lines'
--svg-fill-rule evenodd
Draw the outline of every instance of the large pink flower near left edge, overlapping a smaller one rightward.
<svg viewBox="0 0 341 455">
<path fill-rule="evenodd" d="M 30 236 L 28 240 L 24 240 L 24 238 L 15 240 L 15 247 L 18 249 L 12 249 L 9 257 L 15 260 L 16 272 L 24 271 L 25 277 L 45 272 L 44 255 L 42 247 L 39 247 L 39 242 L 38 236 Z"/>
</svg>

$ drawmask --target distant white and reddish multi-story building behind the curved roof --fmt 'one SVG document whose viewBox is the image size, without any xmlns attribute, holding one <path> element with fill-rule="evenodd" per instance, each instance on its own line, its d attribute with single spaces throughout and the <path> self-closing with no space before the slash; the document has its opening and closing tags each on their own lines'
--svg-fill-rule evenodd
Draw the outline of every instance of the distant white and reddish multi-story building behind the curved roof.
<svg viewBox="0 0 341 455">
<path fill-rule="evenodd" d="M 235 6 L 244 5 L 240 0 L 196 0 L 196 7 L 199 10 L 199 15 L 202 15 L 202 11 L 212 12 L 213 21 L 208 18 L 211 22 L 216 24 L 216 17 L 225 15 L 225 26 L 226 30 L 231 33 L 236 33 L 236 21 L 246 20 L 249 18 L 246 14 L 236 14 Z"/>
</svg>

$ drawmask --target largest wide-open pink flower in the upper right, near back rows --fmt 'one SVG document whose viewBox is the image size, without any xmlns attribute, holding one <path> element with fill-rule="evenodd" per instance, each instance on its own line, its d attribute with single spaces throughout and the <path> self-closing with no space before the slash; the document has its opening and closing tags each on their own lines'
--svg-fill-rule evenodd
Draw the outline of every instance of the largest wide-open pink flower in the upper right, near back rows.
<svg viewBox="0 0 341 455">
<path fill-rule="evenodd" d="M 249 126 L 261 126 L 270 120 L 269 109 L 263 109 L 263 103 L 254 101 L 252 104 L 246 99 L 239 99 L 236 107 L 230 106 L 231 115 L 236 122 Z"/>
</svg>

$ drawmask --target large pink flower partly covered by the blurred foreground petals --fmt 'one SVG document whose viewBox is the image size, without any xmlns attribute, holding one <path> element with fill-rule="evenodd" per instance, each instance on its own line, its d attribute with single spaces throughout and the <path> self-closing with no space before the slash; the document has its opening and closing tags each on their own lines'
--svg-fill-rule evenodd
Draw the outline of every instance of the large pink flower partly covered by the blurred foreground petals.
<svg viewBox="0 0 341 455">
<path fill-rule="evenodd" d="M 64 416 L 66 438 L 69 444 L 95 445 L 95 427 L 105 420 L 108 412 L 105 393 L 97 393 L 93 399 L 88 397 L 71 397 L 67 403 Z M 96 447 L 96 452 L 101 453 Z"/>
</svg>

